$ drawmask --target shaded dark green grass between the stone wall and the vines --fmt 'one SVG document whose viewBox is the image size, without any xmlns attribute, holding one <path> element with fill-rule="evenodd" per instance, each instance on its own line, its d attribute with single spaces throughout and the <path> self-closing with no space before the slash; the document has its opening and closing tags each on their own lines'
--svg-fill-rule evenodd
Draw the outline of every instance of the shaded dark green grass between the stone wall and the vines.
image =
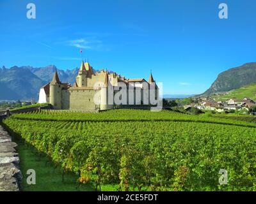
<svg viewBox="0 0 256 204">
<path fill-rule="evenodd" d="M 60 166 L 55 166 L 52 161 L 41 153 L 36 152 L 28 143 L 16 141 L 20 156 L 20 170 L 22 171 L 22 191 L 94 191 L 90 184 L 78 186 L 77 175 L 67 172 L 62 175 Z M 28 185 L 26 172 L 29 169 L 36 171 L 36 184 Z"/>
</svg>

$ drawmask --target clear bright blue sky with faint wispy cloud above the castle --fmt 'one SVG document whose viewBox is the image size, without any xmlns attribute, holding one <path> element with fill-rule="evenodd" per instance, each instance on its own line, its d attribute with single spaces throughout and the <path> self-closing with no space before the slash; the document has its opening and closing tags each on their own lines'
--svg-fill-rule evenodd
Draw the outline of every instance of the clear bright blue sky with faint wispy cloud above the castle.
<svg viewBox="0 0 256 204">
<path fill-rule="evenodd" d="M 164 94 L 199 94 L 221 71 L 256 61 L 255 11 L 253 0 L 0 0 L 0 66 L 72 69 L 83 47 L 95 69 L 146 79 L 152 69 Z"/>
</svg>

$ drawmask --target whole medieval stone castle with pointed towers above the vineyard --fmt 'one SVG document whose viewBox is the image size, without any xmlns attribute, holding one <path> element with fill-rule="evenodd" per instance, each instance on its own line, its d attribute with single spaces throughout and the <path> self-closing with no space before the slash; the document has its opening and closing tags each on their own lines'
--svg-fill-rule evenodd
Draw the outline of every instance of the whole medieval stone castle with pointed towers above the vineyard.
<svg viewBox="0 0 256 204">
<path fill-rule="evenodd" d="M 55 71 L 52 82 L 40 89 L 38 103 L 50 103 L 59 110 L 108 110 L 115 106 L 152 106 L 149 87 L 158 99 L 158 87 L 152 73 L 144 78 L 126 79 L 109 71 L 96 71 L 88 62 L 82 62 L 74 85 L 62 83 Z"/>
</svg>

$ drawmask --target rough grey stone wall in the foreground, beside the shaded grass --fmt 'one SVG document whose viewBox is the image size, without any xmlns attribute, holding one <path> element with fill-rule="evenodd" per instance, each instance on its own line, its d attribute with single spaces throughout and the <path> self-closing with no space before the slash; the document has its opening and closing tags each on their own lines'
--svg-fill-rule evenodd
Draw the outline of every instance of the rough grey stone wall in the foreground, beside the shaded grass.
<svg viewBox="0 0 256 204">
<path fill-rule="evenodd" d="M 19 191 L 22 175 L 19 170 L 17 144 L 0 125 L 0 191 Z"/>
</svg>

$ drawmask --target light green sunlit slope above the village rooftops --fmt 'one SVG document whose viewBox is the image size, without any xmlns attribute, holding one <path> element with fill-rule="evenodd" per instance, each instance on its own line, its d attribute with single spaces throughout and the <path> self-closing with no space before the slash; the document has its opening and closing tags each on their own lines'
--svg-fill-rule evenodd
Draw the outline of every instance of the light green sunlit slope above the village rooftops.
<svg viewBox="0 0 256 204">
<path fill-rule="evenodd" d="M 223 96 L 212 96 L 214 99 L 218 101 L 225 101 L 230 98 L 236 98 L 236 99 L 243 99 L 244 97 L 256 99 L 256 84 L 250 84 L 246 85 L 244 87 L 241 87 L 240 89 L 234 89 L 232 91 L 229 91 L 227 94 L 224 94 Z"/>
</svg>

